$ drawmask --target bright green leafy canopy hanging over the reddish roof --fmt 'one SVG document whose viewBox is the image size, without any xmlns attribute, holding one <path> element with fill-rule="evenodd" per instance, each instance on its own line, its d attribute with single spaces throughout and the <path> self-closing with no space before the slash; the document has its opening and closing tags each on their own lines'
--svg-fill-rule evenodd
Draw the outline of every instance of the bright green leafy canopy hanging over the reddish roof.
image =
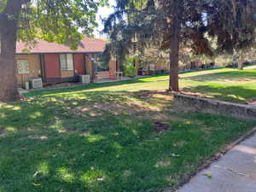
<svg viewBox="0 0 256 192">
<path fill-rule="evenodd" d="M 41 38 L 49 42 L 68 44 L 75 49 L 84 33 L 91 36 L 96 12 L 106 0 L 0 0 L 0 18 L 8 15 L 17 20 L 17 38 L 32 42 Z M 20 3 L 20 14 L 10 15 L 13 4 Z"/>
</svg>

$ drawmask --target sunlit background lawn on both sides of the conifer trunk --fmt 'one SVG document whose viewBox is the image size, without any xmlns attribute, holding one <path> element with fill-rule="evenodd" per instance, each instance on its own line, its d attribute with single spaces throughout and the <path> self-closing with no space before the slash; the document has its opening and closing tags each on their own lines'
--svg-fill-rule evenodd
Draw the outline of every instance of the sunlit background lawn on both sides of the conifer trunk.
<svg viewBox="0 0 256 192">
<path fill-rule="evenodd" d="M 180 87 L 185 93 L 210 97 L 226 102 L 250 103 L 256 101 L 256 70 L 246 68 L 220 68 L 202 70 L 199 72 L 181 73 Z M 169 76 L 156 75 L 150 78 L 133 79 L 105 84 L 90 84 L 71 89 L 34 91 L 27 96 L 65 96 L 65 92 L 88 91 L 138 91 L 138 90 L 166 90 Z"/>
</svg>

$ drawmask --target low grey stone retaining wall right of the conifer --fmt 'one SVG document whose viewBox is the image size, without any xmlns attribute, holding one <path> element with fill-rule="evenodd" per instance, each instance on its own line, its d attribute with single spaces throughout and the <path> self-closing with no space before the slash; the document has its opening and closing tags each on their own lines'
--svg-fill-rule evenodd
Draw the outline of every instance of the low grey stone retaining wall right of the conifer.
<svg viewBox="0 0 256 192">
<path fill-rule="evenodd" d="M 197 96 L 174 94 L 174 105 L 177 110 L 185 112 L 212 113 L 241 119 L 256 120 L 256 108 L 232 102 L 222 102 Z"/>
</svg>

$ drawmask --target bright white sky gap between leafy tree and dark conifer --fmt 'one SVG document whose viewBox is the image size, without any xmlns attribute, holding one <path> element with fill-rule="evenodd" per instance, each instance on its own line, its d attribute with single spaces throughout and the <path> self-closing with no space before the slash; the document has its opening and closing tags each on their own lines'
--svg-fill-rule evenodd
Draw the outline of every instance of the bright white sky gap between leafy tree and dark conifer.
<svg viewBox="0 0 256 192">
<path fill-rule="evenodd" d="M 96 28 L 94 35 L 96 38 L 102 38 L 102 35 L 100 32 L 103 29 L 102 19 L 108 18 L 108 15 L 113 13 L 113 6 L 115 5 L 114 0 L 109 0 L 109 7 L 103 7 L 98 10 L 98 13 L 96 15 L 96 20 L 98 23 L 98 28 Z"/>
</svg>

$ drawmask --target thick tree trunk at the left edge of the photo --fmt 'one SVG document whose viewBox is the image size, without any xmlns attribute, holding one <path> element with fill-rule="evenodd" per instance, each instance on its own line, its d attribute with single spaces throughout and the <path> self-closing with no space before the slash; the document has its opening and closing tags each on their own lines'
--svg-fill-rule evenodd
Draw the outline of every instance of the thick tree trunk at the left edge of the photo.
<svg viewBox="0 0 256 192">
<path fill-rule="evenodd" d="M 9 0 L 0 14 L 0 101 L 13 102 L 19 99 L 16 77 L 16 36 L 21 4 L 26 1 Z"/>
</svg>

